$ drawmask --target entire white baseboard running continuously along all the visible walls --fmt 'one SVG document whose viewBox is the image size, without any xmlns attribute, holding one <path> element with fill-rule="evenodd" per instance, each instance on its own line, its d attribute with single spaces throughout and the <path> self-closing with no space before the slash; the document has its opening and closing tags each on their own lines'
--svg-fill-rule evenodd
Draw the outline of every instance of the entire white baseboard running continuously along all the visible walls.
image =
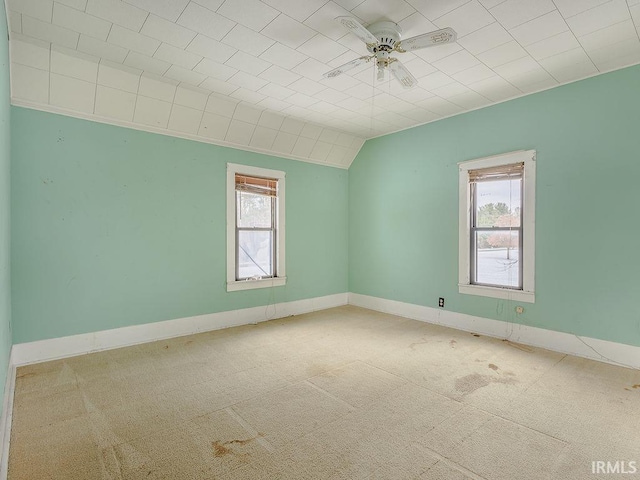
<svg viewBox="0 0 640 480">
<path fill-rule="evenodd" d="M 614 365 L 640 368 L 640 347 L 357 293 L 339 293 L 275 305 L 198 315 L 37 342 L 19 343 L 13 345 L 11 349 L 4 392 L 4 408 L 0 422 L 0 442 L 2 442 L 0 445 L 0 454 L 2 455 L 0 460 L 0 479 L 7 478 L 17 366 L 210 330 L 248 325 L 347 304 L 491 337 L 508 338 L 513 342 Z"/>
</svg>

